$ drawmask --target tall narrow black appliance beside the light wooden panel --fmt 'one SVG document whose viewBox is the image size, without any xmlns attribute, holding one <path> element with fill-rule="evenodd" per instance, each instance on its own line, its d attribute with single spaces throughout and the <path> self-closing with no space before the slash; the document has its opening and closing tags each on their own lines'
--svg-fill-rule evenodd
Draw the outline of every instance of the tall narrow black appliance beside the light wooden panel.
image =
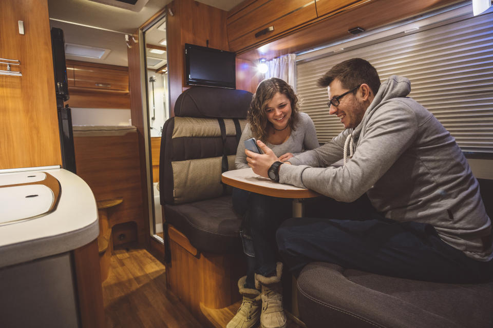
<svg viewBox="0 0 493 328">
<path fill-rule="evenodd" d="M 70 96 L 68 94 L 65 40 L 62 29 L 51 28 L 51 51 L 53 54 L 56 110 L 58 111 L 62 164 L 65 170 L 77 173 L 75 170 L 75 150 L 73 147 L 72 114 L 68 105 L 63 106 L 63 102 L 67 101 Z"/>
</svg>

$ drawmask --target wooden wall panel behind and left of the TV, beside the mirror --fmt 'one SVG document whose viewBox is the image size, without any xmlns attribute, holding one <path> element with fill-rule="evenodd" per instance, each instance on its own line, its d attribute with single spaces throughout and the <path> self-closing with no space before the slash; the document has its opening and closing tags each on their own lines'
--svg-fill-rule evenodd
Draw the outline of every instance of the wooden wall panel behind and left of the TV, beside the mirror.
<svg viewBox="0 0 493 328">
<path fill-rule="evenodd" d="M 229 50 L 226 36 L 226 12 L 193 0 L 168 5 L 174 16 L 167 16 L 167 60 L 171 115 L 175 101 L 185 86 L 185 43 Z"/>
</svg>

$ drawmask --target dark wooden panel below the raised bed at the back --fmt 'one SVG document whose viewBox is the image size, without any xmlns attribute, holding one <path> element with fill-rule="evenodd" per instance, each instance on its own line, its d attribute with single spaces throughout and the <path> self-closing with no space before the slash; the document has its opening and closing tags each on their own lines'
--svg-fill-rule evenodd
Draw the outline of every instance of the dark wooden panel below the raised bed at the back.
<svg viewBox="0 0 493 328">
<path fill-rule="evenodd" d="M 96 200 L 122 198 L 108 211 L 110 226 L 135 221 L 141 244 L 149 235 L 143 216 L 137 132 L 123 136 L 75 136 L 77 175 L 87 182 Z"/>
</svg>

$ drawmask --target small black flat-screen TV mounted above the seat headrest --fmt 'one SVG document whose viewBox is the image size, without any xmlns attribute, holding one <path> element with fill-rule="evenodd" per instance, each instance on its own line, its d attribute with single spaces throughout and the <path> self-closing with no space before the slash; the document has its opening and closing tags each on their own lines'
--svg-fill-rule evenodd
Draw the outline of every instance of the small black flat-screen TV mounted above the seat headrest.
<svg viewBox="0 0 493 328">
<path fill-rule="evenodd" d="M 185 44 L 186 84 L 236 89 L 234 52 Z"/>
</svg>

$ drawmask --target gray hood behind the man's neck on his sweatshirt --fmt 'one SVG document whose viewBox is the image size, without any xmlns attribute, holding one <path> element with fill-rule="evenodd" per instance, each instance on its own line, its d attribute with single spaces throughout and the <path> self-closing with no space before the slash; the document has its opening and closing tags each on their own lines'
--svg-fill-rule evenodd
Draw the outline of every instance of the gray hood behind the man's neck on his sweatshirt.
<svg viewBox="0 0 493 328">
<path fill-rule="evenodd" d="M 363 119 L 358 126 L 354 128 L 352 133 L 353 138 L 357 139 L 359 137 L 359 134 L 366 126 L 366 122 L 370 119 L 373 112 L 384 105 L 387 100 L 407 97 L 410 92 L 411 82 L 407 77 L 391 75 L 380 85 L 380 88 L 378 89 L 378 92 L 376 93 L 375 98 L 373 98 L 370 106 L 366 110 Z"/>
</svg>

